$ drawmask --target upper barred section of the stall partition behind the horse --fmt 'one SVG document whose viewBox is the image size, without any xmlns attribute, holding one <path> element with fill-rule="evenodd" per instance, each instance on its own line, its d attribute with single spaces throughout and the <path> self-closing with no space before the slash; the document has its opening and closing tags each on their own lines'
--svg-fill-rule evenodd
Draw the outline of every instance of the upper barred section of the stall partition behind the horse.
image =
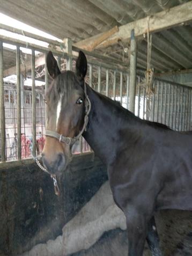
<svg viewBox="0 0 192 256">
<path fill-rule="evenodd" d="M 11 43 L 14 44 L 14 40 Z M 3 42 L 0 42 L 0 161 L 2 162 L 39 155 L 45 142 L 46 106 L 43 98 L 50 83 L 45 65 L 48 48 L 29 44 L 31 54 L 25 58 L 20 50 L 21 46 L 26 47 L 25 43 L 17 41 L 15 51 L 17 78 L 13 83 L 4 81 L 3 78 Z M 38 55 L 36 50 L 39 52 Z M 71 55 L 56 49 L 53 49 L 53 53 L 61 70 L 75 71 L 75 58 L 72 59 Z M 92 56 L 92 53 L 89 55 Z M 35 69 L 36 63 L 40 63 L 38 69 Z M 21 69 L 30 76 L 30 81 L 25 81 L 27 84 L 21 76 Z M 146 95 L 145 87 L 141 86 L 142 79 L 142 76 L 137 76 L 135 114 L 142 119 L 164 123 L 175 130 L 190 130 L 191 88 L 156 79 L 153 83 L 154 94 L 149 97 Z M 113 63 L 88 58 L 86 82 L 94 90 L 129 108 L 127 68 L 116 68 Z M 74 145 L 72 152 L 77 154 L 90 150 L 84 138 L 81 138 Z"/>
</svg>

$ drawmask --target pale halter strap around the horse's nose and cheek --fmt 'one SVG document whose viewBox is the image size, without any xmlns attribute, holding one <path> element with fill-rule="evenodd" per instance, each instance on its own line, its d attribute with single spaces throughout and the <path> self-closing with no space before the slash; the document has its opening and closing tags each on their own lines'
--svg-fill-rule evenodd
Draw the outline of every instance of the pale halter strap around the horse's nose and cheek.
<svg viewBox="0 0 192 256">
<path fill-rule="evenodd" d="M 71 138 L 71 137 L 65 137 L 62 134 L 56 133 L 56 131 L 46 130 L 45 132 L 46 136 L 56 138 L 58 141 L 60 141 L 61 143 L 65 143 L 68 146 L 72 146 L 76 141 L 79 140 L 80 136 L 82 136 L 82 134 L 86 130 L 87 123 L 88 123 L 88 114 L 91 111 L 91 101 L 87 95 L 87 88 L 86 88 L 85 82 L 84 82 L 84 92 L 85 92 L 85 118 L 84 118 L 83 128 L 82 130 L 80 130 L 79 134 L 76 137 Z"/>
</svg>

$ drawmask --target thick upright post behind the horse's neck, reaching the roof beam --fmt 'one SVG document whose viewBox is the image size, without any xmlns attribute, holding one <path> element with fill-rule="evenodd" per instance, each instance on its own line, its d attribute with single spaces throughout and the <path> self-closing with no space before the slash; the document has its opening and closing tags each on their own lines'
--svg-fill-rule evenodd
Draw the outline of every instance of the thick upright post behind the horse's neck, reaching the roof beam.
<svg viewBox="0 0 192 256">
<path fill-rule="evenodd" d="M 132 113 L 135 113 L 136 68 L 137 68 L 136 66 L 137 66 L 137 43 L 136 43 L 134 30 L 131 30 L 129 110 Z"/>
</svg>

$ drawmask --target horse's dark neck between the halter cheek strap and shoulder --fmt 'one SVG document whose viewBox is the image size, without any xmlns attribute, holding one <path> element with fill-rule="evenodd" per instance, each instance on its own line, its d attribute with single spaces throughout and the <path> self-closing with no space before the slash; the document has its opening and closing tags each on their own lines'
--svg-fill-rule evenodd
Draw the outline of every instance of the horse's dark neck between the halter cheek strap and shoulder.
<svg viewBox="0 0 192 256">
<path fill-rule="evenodd" d="M 87 131 L 83 134 L 85 140 L 97 153 L 105 164 L 110 164 L 116 157 L 117 147 L 121 141 L 120 130 L 129 129 L 130 116 L 123 118 L 119 107 L 110 102 L 106 97 L 96 93 L 87 86 L 87 94 L 91 101 L 91 112 Z M 129 114 L 129 112 L 127 113 Z"/>
</svg>

